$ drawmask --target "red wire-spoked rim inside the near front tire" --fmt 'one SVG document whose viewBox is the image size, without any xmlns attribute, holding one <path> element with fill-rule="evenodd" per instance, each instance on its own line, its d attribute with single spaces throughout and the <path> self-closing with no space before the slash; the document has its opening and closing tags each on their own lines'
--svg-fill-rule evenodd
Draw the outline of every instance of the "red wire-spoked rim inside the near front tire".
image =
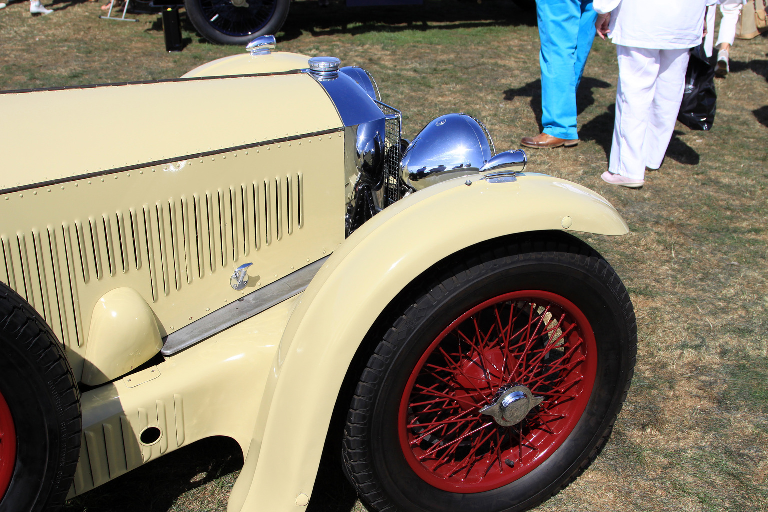
<svg viewBox="0 0 768 512">
<path fill-rule="evenodd" d="M 581 419 L 597 352 L 591 325 L 568 299 L 525 290 L 482 302 L 415 365 L 399 409 L 406 461 L 423 481 L 453 493 L 518 480 L 557 451 Z M 505 427 L 480 410 L 510 385 L 543 401 Z"/>
</svg>

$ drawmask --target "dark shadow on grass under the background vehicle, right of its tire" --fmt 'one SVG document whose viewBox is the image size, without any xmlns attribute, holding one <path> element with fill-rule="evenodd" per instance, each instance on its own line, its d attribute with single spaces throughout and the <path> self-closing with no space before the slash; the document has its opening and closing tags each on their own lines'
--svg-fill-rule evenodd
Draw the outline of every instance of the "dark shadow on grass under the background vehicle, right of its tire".
<svg viewBox="0 0 768 512">
<path fill-rule="evenodd" d="M 319 2 L 293 2 L 280 41 L 299 38 L 303 32 L 323 35 L 362 35 L 369 32 L 455 30 L 494 26 L 536 25 L 536 12 L 511 0 L 482 4 L 455 0 L 426 0 L 424 5 L 346 7 L 343 0 L 326 8 Z M 433 25 L 439 24 L 439 25 Z M 450 24 L 450 25 L 445 25 Z"/>
</svg>

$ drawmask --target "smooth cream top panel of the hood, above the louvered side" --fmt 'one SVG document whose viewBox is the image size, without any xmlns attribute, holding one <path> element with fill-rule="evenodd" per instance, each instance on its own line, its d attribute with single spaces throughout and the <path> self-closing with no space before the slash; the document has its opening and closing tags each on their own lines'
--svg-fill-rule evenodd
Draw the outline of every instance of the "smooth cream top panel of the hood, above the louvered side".
<svg viewBox="0 0 768 512">
<path fill-rule="evenodd" d="M 216 114 L 204 123 L 181 114 L 212 101 Z M 307 74 L 7 93 L 0 112 L 14 127 L 0 137 L 0 191 L 342 126 Z M 29 136 L 41 120 L 49 132 L 67 134 L 46 140 L 42 151 Z M 94 132 L 103 136 L 94 141 Z"/>
</svg>

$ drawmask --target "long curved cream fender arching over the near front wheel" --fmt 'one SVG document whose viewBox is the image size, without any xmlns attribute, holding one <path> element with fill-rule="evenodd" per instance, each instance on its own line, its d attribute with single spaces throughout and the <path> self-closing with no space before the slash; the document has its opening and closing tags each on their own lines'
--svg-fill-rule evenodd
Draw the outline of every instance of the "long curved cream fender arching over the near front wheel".
<svg viewBox="0 0 768 512">
<path fill-rule="evenodd" d="M 439 183 L 353 233 L 297 302 L 228 510 L 298 512 L 306 506 L 349 363 L 379 314 L 413 279 L 468 246 L 565 228 L 629 232 L 598 194 L 528 174 L 511 183 L 488 183 L 479 176 Z"/>
</svg>

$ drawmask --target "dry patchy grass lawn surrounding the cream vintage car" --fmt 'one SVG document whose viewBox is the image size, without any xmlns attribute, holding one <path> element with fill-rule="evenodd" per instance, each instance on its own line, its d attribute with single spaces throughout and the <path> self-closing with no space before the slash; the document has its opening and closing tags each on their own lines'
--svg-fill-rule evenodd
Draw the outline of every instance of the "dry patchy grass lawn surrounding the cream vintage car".
<svg viewBox="0 0 768 512">
<path fill-rule="evenodd" d="M 3 90 L 173 78 L 242 51 L 200 41 L 184 20 L 187 48 L 169 55 L 157 14 L 101 21 L 98 4 L 56 2 L 54 15 L 30 18 L 27 5 L 0 11 Z M 500 150 L 539 132 L 535 16 L 512 2 L 367 9 L 294 2 L 278 45 L 367 68 L 385 101 L 405 114 L 406 137 L 455 111 L 485 121 Z M 717 81 L 714 129 L 678 124 L 664 166 L 641 190 L 599 179 L 617 82 L 614 48 L 603 41 L 595 41 L 579 91 L 581 144 L 529 152 L 529 170 L 597 190 L 631 226 L 621 238 L 584 238 L 623 277 L 640 333 L 637 372 L 613 438 L 578 481 L 538 510 L 768 510 L 768 38 L 737 41 L 731 56 L 732 73 Z M 207 115 L 216 101 L 225 100 L 169 105 L 147 123 Z M 0 136 L 8 130 L 2 126 Z M 41 123 L 29 136 L 45 144 L 67 134 Z M 91 142 L 118 136 L 94 128 Z M 241 464 L 233 442 L 204 441 L 67 510 L 226 510 Z M 310 512 L 362 510 L 334 460 L 322 474 Z"/>
</svg>

